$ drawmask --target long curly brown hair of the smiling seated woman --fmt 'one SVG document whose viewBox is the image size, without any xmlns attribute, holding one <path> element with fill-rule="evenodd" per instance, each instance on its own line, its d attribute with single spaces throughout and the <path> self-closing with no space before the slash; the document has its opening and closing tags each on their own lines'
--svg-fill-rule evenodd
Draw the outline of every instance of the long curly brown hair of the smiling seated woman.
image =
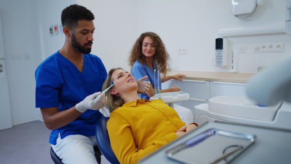
<svg viewBox="0 0 291 164">
<path fill-rule="evenodd" d="M 132 70 L 132 65 L 136 60 L 138 60 L 141 64 L 146 64 L 145 55 L 142 53 L 142 44 L 146 36 L 152 38 L 156 44 L 156 53 L 154 55 L 153 61 L 158 67 L 158 70 L 160 71 L 162 77 L 165 77 L 167 69 L 170 66 L 169 62 L 171 58 L 160 36 L 152 32 L 142 33 L 134 43 L 129 56 L 129 66 L 131 66 L 130 71 Z"/>
</svg>

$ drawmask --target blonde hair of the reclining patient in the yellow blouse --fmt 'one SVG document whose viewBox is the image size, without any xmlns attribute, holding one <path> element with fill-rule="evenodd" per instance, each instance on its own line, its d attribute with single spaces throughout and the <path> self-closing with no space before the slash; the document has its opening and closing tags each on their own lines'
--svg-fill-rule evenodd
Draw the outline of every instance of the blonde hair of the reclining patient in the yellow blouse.
<svg viewBox="0 0 291 164">
<path fill-rule="evenodd" d="M 111 80 L 112 74 L 117 69 L 122 69 L 122 68 L 120 68 L 120 67 L 118 67 L 118 68 L 112 68 L 108 72 L 108 76 L 107 76 L 106 80 L 103 82 L 103 85 L 102 85 L 102 91 L 104 91 L 106 88 L 108 88 L 108 87 L 111 86 L 111 83 L 112 83 L 112 80 Z M 124 70 L 124 69 L 122 69 L 122 70 Z M 113 86 L 110 89 L 113 89 L 113 88 L 114 88 L 114 84 L 113 84 Z M 110 90 L 105 93 L 105 96 L 107 96 L 107 107 L 108 107 L 110 113 L 113 112 L 115 109 L 121 107 L 124 104 L 124 100 L 122 98 L 116 96 L 116 95 L 110 94 Z"/>
</svg>

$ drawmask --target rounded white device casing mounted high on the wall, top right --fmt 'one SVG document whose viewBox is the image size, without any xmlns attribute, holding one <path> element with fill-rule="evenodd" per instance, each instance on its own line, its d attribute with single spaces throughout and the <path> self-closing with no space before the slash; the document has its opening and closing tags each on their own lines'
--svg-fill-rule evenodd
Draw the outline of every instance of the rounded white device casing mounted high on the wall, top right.
<svg viewBox="0 0 291 164">
<path fill-rule="evenodd" d="M 234 16 L 250 14 L 256 7 L 257 0 L 232 0 L 230 5 L 231 13 Z"/>
</svg>

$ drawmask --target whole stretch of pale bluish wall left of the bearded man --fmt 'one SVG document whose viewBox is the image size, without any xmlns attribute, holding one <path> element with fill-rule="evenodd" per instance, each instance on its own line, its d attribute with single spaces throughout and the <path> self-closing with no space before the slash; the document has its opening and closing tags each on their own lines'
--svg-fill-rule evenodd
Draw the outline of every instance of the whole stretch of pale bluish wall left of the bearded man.
<svg viewBox="0 0 291 164">
<path fill-rule="evenodd" d="M 13 125 L 42 119 L 40 110 L 35 108 L 34 72 L 46 56 L 64 45 L 64 35 L 49 36 L 49 25 L 61 22 L 61 11 L 74 2 L 0 0 Z M 24 60 L 25 53 L 29 60 Z M 12 59 L 12 54 L 20 54 L 22 59 Z"/>
</svg>

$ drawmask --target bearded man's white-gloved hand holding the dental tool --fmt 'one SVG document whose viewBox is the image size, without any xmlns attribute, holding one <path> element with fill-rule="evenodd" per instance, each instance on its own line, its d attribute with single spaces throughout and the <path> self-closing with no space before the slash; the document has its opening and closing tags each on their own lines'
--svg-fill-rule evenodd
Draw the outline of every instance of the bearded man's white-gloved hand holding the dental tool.
<svg viewBox="0 0 291 164">
<path fill-rule="evenodd" d="M 97 98 L 92 104 L 89 104 L 94 98 L 96 98 L 101 92 L 96 92 L 92 95 L 87 96 L 84 100 L 76 104 L 76 109 L 81 113 L 84 113 L 88 109 L 98 110 L 104 107 L 107 103 L 107 97 L 104 93 L 101 93 L 99 98 Z"/>
</svg>

